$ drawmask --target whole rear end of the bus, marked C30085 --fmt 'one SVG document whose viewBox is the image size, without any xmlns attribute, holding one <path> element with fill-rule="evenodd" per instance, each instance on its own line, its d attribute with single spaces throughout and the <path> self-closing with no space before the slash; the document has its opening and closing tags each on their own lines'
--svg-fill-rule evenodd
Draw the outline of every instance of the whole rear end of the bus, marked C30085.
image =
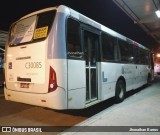
<svg viewBox="0 0 160 135">
<path fill-rule="evenodd" d="M 6 100 L 67 108 L 67 14 L 61 12 L 63 8 L 34 12 L 11 26 L 6 45 Z"/>
</svg>

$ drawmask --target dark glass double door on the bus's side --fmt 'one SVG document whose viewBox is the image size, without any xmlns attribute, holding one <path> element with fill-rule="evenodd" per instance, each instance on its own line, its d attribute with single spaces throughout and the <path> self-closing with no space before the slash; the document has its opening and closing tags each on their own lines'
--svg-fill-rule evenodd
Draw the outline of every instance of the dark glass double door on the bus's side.
<svg viewBox="0 0 160 135">
<path fill-rule="evenodd" d="M 83 49 L 86 62 L 86 103 L 98 99 L 98 47 L 99 35 L 83 31 Z"/>
</svg>

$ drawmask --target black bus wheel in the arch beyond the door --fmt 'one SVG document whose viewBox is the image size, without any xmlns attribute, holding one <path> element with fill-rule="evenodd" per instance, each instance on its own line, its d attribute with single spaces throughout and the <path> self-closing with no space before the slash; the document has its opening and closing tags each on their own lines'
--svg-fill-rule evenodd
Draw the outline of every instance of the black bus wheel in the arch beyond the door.
<svg viewBox="0 0 160 135">
<path fill-rule="evenodd" d="M 125 98 L 126 86 L 123 80 L 118 80 L 116 84 L 115 99 L 117 103 L 120 103 Z"/>
</svg>

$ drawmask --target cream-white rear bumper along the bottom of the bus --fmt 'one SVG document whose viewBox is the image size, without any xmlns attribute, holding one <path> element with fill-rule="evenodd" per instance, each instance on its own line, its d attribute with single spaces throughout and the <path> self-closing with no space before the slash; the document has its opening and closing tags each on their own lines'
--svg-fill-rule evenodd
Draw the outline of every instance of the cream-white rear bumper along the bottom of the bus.
<svg viewBox="0 0 160 135">
<path fill-rule="evenodd" d="M 4 95 L 5 99 L 10 101 L 57 110 L 67 109 L 66 91 L 60 87 L 51 93 L 44 94 L 13 91 L 5 87 Z"/>
</svg>

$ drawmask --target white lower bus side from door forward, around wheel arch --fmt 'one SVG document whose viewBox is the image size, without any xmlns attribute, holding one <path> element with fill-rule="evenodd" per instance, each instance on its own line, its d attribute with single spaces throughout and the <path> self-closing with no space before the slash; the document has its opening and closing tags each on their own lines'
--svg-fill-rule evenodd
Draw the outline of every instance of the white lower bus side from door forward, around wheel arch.
<svg viewBox="0 0 160 135">
<path fill-rule="evenodd" d="M 101 64 L 102 100 L 115 96 L 115 86 L 120 77 L 125 79 L 126 91 L 147 84 L 147 65 L 104 63 Z"/>
</svg>

